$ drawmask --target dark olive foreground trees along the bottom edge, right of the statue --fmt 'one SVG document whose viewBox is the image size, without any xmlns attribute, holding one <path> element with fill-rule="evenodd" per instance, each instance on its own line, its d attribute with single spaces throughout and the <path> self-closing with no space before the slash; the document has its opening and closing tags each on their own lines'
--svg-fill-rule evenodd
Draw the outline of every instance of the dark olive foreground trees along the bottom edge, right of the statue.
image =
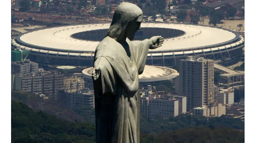
<svg viewBox="0 0 256 143">
<path fill-rule="evenodd" d="M 156 136 L 140 134 L 140 143 L 244 143 L 244 141 L 244 131 L 203 126 L 173 132 L 163 131 Z"/>
</svg>

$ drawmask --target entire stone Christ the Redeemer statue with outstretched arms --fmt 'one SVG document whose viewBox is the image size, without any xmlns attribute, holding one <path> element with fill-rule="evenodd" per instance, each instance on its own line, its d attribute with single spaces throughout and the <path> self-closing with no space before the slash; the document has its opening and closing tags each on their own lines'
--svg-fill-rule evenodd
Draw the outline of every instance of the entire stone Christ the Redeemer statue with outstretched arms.
<svg viewBox="0 0 256 143">
<path fill-rule="evenodd" d="M 140 30 L 137 5 L 118 5 L 106 37 L 94 53 L 96 143 L 139 143 L 139 78 L 148 49 L 162 46 L 161 36 L 132 41 Z"/>
</svg>

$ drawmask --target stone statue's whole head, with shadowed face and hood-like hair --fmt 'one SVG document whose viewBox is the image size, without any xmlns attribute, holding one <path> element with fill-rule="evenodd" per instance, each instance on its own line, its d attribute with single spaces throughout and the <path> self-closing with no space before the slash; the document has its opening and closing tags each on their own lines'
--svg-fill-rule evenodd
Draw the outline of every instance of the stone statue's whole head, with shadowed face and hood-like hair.
<svg viewBox="0 0 256 143">
<path fill-rule="evenodd" d="M 133 40 L 135 33 L 140 29 L 142 17 L 142 10 L 137 5 L 129 2 L 119 4 L 106 36 L 117 41 L 124 36 Z"/>
</svg>

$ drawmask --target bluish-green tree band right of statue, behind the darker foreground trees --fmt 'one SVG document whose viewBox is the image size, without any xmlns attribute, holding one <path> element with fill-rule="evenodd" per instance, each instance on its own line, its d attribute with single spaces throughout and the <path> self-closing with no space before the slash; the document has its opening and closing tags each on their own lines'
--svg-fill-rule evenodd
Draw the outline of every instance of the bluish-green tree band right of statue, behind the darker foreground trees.
<svg viewBox="0 0 256 143">
<path fill-rule="evenodd" d="M 161 118 L 155 116 L 154 120 L 148 120 L 143 115 L 140 118 L 140 131 L 144 133 L 157 134 L 163 131 L 176 131 L 183 128 L 195 128 L 199 126 L 220 126 L 244 130 L 245 123 L 239 119 L 226 117 L 209 118 L 181 114 L 174 118 Z"/>
</svg>

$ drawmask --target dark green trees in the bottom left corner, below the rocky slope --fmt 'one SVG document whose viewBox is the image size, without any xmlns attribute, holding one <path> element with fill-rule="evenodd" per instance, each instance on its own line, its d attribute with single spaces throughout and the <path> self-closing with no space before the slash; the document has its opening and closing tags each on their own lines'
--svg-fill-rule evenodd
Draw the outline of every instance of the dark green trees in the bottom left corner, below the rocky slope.
<svg viewBox="0 0 256 143">
<path fill-rule="evenodd" d="M 91 123 L 68 122 L 48 115 L 33 112 L 21 102 L 11 102 L 11 140 L 13 143 L 95 143 L 95 126 Z"/>
</svg>

